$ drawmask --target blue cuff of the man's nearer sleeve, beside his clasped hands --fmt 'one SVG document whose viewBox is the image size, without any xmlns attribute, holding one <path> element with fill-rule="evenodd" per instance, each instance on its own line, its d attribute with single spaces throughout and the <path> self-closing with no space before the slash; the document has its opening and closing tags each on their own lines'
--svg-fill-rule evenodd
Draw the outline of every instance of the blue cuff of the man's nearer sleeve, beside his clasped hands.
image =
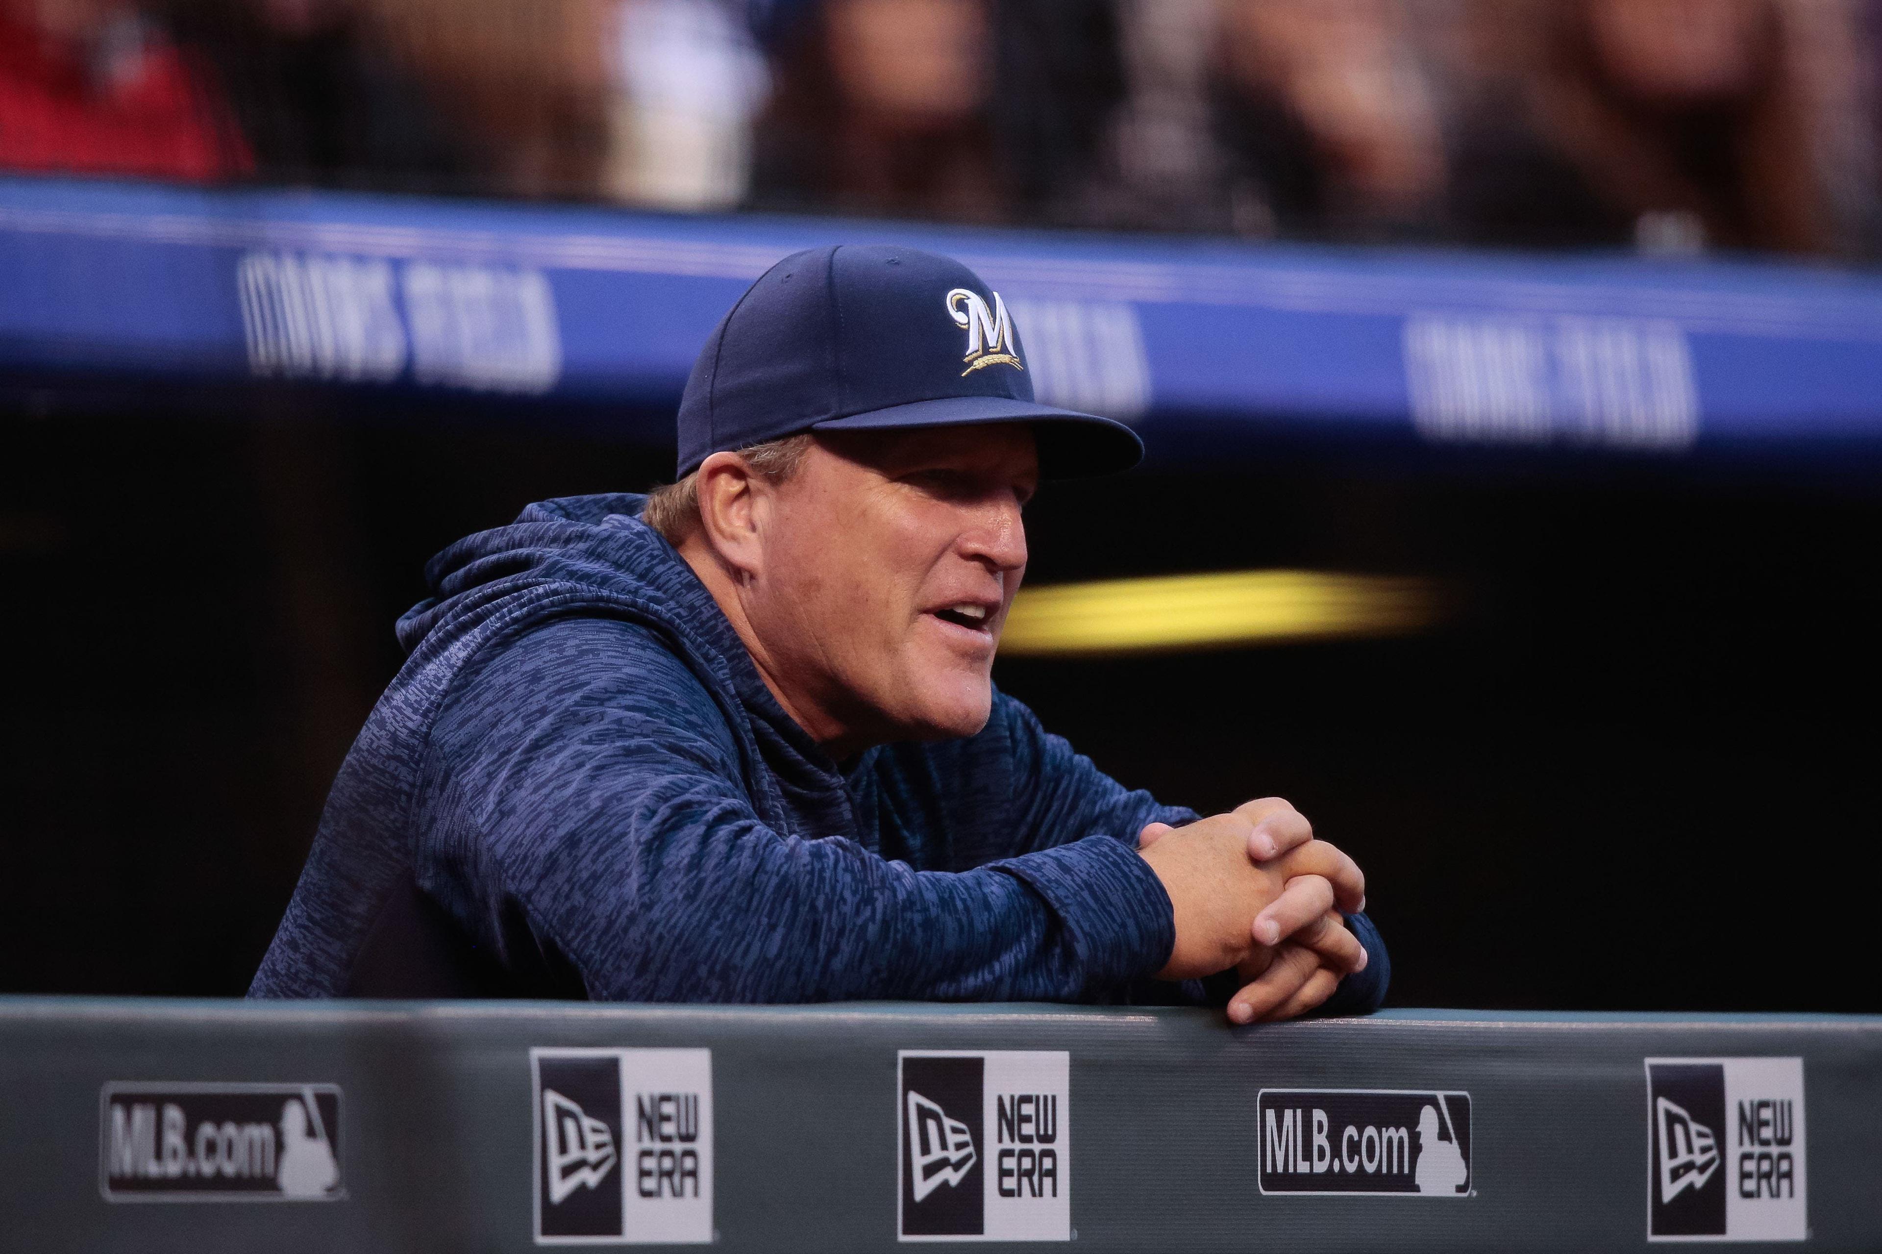
<svg viewBox="0 0 1882 1254">
<path fill-rule="evenodd" d="M 1169 892 L 1150 862 L 1114 836 L 1086 836 L 988 870 L 1020 879 L 1052 906 L 1088 996 L 1154 977 L 1171 960 L 1176 915 Z"/>
</svg>

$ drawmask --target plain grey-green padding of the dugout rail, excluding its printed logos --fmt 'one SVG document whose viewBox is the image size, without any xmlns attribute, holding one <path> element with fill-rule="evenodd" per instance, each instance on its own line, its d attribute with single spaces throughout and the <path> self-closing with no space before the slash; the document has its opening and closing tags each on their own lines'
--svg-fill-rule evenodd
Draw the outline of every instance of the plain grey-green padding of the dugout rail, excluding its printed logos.
<svg viewBox="0 0 1882 1254">
<path fill-rule="evenodd" d="M 1807 1167 L 1807 1248 L 1882 1248 L 1882 1019 L 1395 1011 L 1233 1030 L 1206 1011 L 1063 1005 L 79 998 L 0 998 L 0 1246 L 534 1248 L 533 1047 L 711 1051 L 711 1228 L 726 1254 L 898 1245 L 898 1051 L 1069 1054 L 1060 1118 L 1082 1254 L 1643 1248 L 1645 1060 L 1801 1058 L 1805 1111 L 1790 1152 L 1803 1160 L 1799 1173 Z M 124 1181 L 113 1184 L 107 1166 L 128 1162 L 128 1141 L 113 1158 L 105 1088 L 192 1092 L 188 1083 L 280 1085 L 265 1090 L 271 1101 L 292 1100 L 301 1085 L 337 1086 L 339 1115 L 329 1118 L 343 1196 L 113 1201 L 107 1194 Z M 1415 1118 L 1417 1094 L 1468 1094 L 1468 1190 L 1265 1196 L 1259 1094 L 1287 1088 L 1412 1092 L 1380 1107 L 1387 1122 Z M 576 1184 L 570 1196 L 632 1186 L 634 1100 L 625 1105 L 619 1162 L 598 1186 Z M 1453 1100 L 1445 1109 L 1462 1117 L 1466 1107 Z M 1304 1118 L 1310 1133 L 1312 1115 Z M 1709 1128 L 1720 1162 L 1703 1188 L 1741 1186 L 1735 1113 L 1722 1122 Z M 977 1145 L 986 1171 L 994 1135 L 990 1118 Z M 937 1196 L 952 1188 L 941 1184 Z"/>
</svg>

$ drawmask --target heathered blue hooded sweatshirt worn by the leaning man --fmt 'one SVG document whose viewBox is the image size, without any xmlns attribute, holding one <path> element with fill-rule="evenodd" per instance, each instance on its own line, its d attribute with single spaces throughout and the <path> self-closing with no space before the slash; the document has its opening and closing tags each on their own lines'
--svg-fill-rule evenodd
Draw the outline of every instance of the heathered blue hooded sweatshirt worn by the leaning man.
<svg viewBox="0 0 1882 1254">
<path fill-rule="evenodd" d="M 531 505 L 433 557 L 250 996 L 343 996 L 416 883 L 533 996 L 1172 1000 L 1133 994 L 1174 945 L 1135 840 L 1193 812 L 999 691 L 973 736 L 834 763 L 642 501 Z M 1385 992 L 1349 926 L 1372 960 L 1332 1013 Z"/>
</svg>

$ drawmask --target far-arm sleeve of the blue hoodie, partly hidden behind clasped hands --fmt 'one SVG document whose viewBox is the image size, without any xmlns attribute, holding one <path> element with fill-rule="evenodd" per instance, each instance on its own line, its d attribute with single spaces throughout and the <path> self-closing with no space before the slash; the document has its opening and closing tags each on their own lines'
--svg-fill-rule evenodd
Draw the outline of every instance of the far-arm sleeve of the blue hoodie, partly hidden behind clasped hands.
<svg viewBox="0 0 1882 1254">
<path fill-rule="evenodd" d="M 1099 770 L 1092 759 L 1075 753 L 1063 736 L 1041 727 L 1039 717 L 1024 704 L 996 695 L 994 717 L 1005 721 L 1014 761 L 1020 770 L 1022 832 L 1028 849 L 1048 849 L 1065 840 L 1090 840 L 1093 834 L 1112 836 L 1125 845 L 1137 845 L 1137 832 L 1146 823 L 1182 827 L 1195 823 L 1197 812 L 1182 806 L 1163 806 L 1150 793 L 1131 791 Z M 1366 947 L 1366 970 L 1348 975 L 1317 1015 L 1370 1015 L 1385 1002 L 1393 962 L 1378 926 L 1366 915 L 1348 915 L 1346 926 Z M 1131 1000 L 1140 1004 L 1169 1002 L 1172 996 L 1189 1004 L 1227 1005 L 1240 983 L 1235 972 L 1206 981 L 1186 981 L 1180 992 L 1172 985 L 1139 983 Z"/>
</svg>

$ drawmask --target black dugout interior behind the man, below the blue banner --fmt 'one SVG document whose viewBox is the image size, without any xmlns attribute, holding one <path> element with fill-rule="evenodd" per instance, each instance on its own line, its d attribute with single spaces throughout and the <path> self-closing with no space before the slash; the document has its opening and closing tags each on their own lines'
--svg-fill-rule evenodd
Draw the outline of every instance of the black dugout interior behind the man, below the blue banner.
<svg viewBox="0 0 1882 1254">
<path fill-rule="evenodd" d="M 0 392 L 0 990 L 243 992 L 423 561 L 659 480 L 670 452 L 627 429 Z M 1165 800 L 1299 804 L 1366 868 L 1391 1004 L 1882 1011 L 1876 490 L 1560 454 L 1236 465 L 1048 486 L 1029 580 L 1417 574 L 1445 621 L 997 682 Z"/>
</svg>

